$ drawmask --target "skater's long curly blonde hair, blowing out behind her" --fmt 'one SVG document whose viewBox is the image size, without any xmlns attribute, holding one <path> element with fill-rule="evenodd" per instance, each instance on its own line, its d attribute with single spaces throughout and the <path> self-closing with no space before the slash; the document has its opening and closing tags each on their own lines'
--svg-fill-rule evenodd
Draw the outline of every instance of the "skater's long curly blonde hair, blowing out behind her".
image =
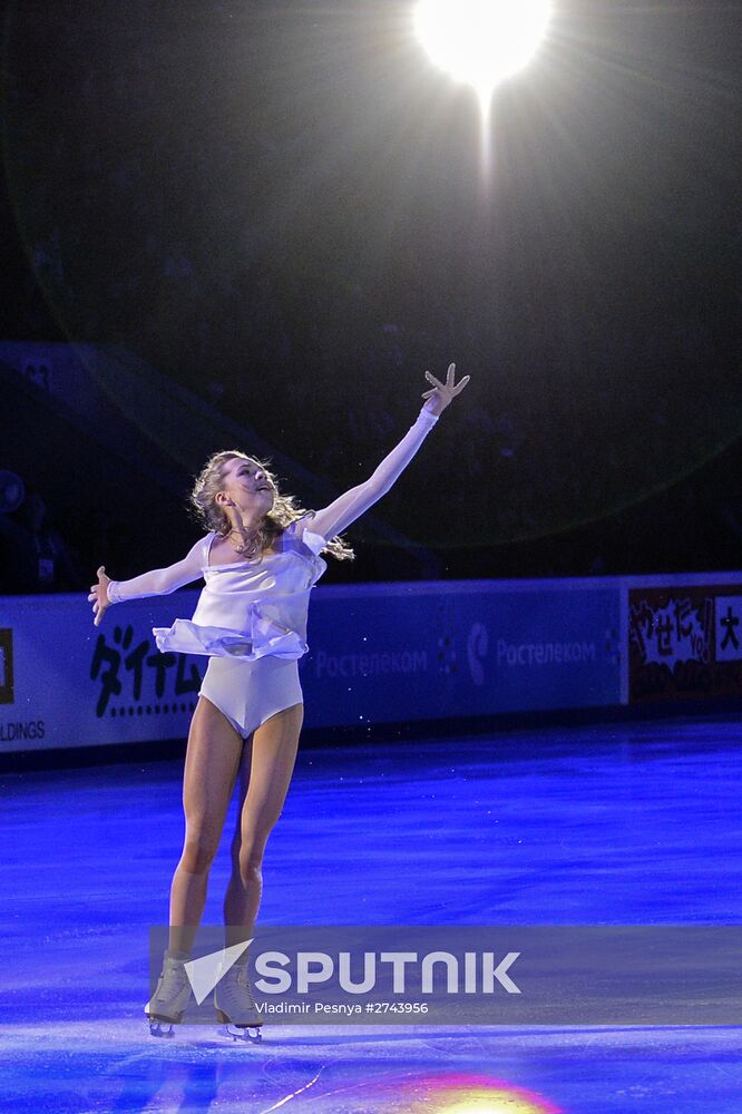
<svg viewBox="0 0 742 1114">
<path fill-rule="evenodd" d="M 191 491 L 191 507 L 207 531 L 213 530 L 219 537 L 225 538 L 232 530 L 232 522 L 217 504 L 216 495 L 224 490 L 225 466 L 235 458 L 257 465 L 273 488 L 273 507 L 264 517 L 261 528 L 251 543 L 240 546 L 237 549 L 241 556 L 252 559 L 271 549 L 274 540 L 283 534 L 287 526 L 303 518 L 304 515 L 313 514 L 313 511 L 300 507 L 293 496 L 281 494 L 277 477 L 265 461 L 258 460 L 256 457 L 248 457 L 240 449 L 227 449 L 223 452 L 214 452 L 208 458 Z M 339 537 L 330 539 L 322 553 L 329 553 L 338 560 L 352 560 L 355 556 L 351 547 Z"/>
</svg>

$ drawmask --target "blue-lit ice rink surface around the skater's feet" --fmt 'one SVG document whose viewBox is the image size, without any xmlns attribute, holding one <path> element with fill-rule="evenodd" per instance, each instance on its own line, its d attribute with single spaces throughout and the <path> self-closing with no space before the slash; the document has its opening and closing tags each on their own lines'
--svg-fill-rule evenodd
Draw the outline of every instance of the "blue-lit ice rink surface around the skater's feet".
<svg viewBox="0 0 742 1114">
<path fill-rule="evenodd" d="M 742 1111 L 736 1028 L 266 1024 L 243 1044 L 215 1022 L 153 1038 L 148 929 L 167 919 L 180 774 L 0 775 L 0 1110 Z M 303 749 L 261 922 L 741 924 L 741 780 L 731 716 Z"/>
</svg>

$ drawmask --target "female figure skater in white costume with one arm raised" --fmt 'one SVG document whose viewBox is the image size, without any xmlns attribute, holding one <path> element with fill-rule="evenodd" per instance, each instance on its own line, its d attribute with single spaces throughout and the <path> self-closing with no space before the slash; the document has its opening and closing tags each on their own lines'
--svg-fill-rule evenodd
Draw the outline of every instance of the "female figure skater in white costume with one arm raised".
<svg viewBox="0 0 742 1114">
<path fill-rule="evenodd" d="M 88 596 L 96 625 L 110 604 L 205 580 L 193 619 L 154 631 L 160 651 L 208 656 L 188 732 L 185 840 L 170 887 L 168 948 L 155 994 L 145 1006 L 155 1035 L 160 1035 L 160 1022 L 172 1027 L 182 1019 L 191 997 L 184 962 L 191 957 L 208 871 L 238 776 L 238 821 L 224 899 L 225 946 L 252 936 L 263 853 L 296 758 L 303 719 L 297 658 L 307 649 L 310 592 L 326 568 L 320 554 L 352 557 L 339 535 L 389 491 L 438 416 L 469 381 L 466 375 L 455 382 L 453 364 L 445 383 L 430 372 L 426 378 L 431 389 L 422 395 L 427 402 L 411 429 L 370 479 L 322 510 L 303 511 L 281 496 L 274 477 L 251 457 L 237 450 L 217 452 L 192 492 L 208 532 L 183 560 L 130 580 L 111 580 L 98 569 L 98 583 Z M 244 1034 L 257 1027 L 261 1017 L 250 991 L 246 952 L 241 960 L 221 979 L 214 1001 L 219 1019 Z"/>
</svg>

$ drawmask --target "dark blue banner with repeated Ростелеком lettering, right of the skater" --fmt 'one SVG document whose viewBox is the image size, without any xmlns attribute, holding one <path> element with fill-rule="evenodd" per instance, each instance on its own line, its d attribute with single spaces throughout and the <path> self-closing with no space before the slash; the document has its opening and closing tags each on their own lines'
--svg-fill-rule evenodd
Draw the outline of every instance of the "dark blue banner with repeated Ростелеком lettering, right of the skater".
<svg viewBox="0 0 742 1114">
<path fill-rule="evenodd" d="M 318 593 L 307 723 L 437 720 L 621 701 L 619 596 L 589 582 Z"/>
</svg>

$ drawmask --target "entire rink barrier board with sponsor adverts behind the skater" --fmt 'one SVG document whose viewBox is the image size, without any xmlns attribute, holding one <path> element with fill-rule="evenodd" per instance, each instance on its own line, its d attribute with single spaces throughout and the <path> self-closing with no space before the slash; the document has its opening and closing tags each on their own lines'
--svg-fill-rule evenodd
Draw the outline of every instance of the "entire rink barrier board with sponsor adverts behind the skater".
<svg viewBox="0 0 742 1114">
<path fill-rule="evenodd" d="M 153 626 L 197 589 L 111 608 L 0 597 L 0 752 L 185 737 L 206 658 Z M 320 586 L 305 726 L 457 722 L 742 696 L 742 574 Z"/>
</svg>

